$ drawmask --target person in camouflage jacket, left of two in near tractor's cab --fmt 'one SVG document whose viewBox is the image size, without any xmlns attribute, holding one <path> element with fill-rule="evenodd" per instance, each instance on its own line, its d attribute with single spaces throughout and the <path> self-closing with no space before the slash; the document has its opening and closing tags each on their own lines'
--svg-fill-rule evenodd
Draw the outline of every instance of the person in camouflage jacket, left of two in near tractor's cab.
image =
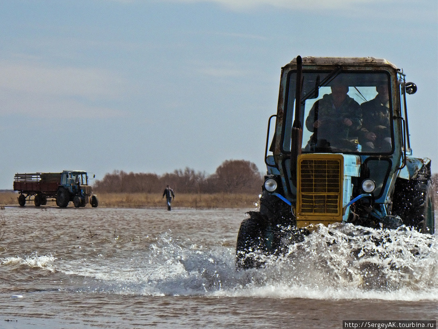
<svg viewBox="0 0 438 329">
<path fill-rule="evenodd" d="M 338 82 L 331 86 L 331 94 L 313 104 L 306 119 L 306 128 L 313 134 L 305 151 L 357 151 L 361 107 L 347 93 L 348 86 Z"/>
</svg>

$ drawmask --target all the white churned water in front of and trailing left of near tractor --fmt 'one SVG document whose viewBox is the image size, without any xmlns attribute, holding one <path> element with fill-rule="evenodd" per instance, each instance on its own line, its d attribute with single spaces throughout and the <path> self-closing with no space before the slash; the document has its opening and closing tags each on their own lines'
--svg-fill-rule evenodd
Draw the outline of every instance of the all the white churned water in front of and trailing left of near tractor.
<svg viewBox="0 0 438 329">
<path fill-rule="evenodd" d="M 171 232 L 124 259 L 57 265 L 91 277 L 95 290 L 122 294 L 262 296 L 274 298 L 436 300 L 437 236 L 408 228 L 318 226 L 262 269 L 236 271 L 230 246 L 202 246 Z"/>
</svg>

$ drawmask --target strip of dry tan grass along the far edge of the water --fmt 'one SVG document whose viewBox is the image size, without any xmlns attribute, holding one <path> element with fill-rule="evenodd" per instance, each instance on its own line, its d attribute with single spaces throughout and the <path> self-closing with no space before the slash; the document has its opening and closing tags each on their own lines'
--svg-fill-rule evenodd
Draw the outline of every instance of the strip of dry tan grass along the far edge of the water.
<svg viewBox="0 0 438 329">
<path fill-rule="evenodd" d="M 101 193 L 97 194 L 99 207 L 108 208 L 162 208 L 162 194 L 146 193 Z M 254 194 L 177 194 L 172 207 L 183 208 L 252 208 L 259 202 Z M 27 204 L 27 203 L 26 203 Z M 33 202 L 30 202 L 33 205 Z M 0 205 L 18 205 L 18 193 L 1 192 Z M 55 203 L 48 203 L 55 205 Z"/>
</svg>

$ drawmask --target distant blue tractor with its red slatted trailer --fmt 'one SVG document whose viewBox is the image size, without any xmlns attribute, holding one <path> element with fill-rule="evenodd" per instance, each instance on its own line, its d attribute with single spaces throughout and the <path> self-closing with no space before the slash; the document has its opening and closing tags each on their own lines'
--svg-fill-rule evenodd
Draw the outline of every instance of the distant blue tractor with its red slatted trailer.
<svg viewBox="0 0 438 329">
<path fill-rule="evenodd" d="M 14 191 L 18 191 L 18 204 L 24 207 L 26 201 L 33 201 L 36 207 L 56 201 L 65 208 L 73 201 L 74 207 L 98 206 L 97 196 L 92 194 L 87 172 L 64 170 L 62 173 L 15 174 Z"/>
</svg>

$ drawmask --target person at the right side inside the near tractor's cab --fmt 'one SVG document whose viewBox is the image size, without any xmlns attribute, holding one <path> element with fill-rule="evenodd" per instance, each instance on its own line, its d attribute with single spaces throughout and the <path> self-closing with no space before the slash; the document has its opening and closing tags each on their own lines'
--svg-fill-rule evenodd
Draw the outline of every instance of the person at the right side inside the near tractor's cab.
<svg viewBox="0 0 438 329">
<path fill-rule="evenodd" d="M 379 85 L 376 91 L 374 99 L 361 104 L 363 121 L 359 140 L 364 152 L 389 152 L 392 144 L 388 86 Z"/>
</svg>

